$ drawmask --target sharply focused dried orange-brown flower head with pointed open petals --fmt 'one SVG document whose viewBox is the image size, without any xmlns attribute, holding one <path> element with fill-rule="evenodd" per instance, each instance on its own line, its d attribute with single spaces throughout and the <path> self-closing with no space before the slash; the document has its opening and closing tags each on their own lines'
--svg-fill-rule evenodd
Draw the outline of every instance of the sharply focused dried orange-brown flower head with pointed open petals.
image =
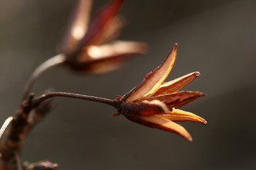
<svg viewBox="0 0 256 170">
<path fill-rule="evenodd" d="M 199 91 L 178 91 L 186 86 L 200 74 L 193 72 L 183 77 L 164 82 L 176 59 L 177 44 L 166 57 L 166 60 L 146 75 L 143 81 L 137 85 L 128 94 L 117 96 L 116 100 L 120 101 L 119 113 L 135 123 L 176 132 L 192 141 L 191 135 L 181 125 L 174 121 L 193 121 L 206 124 L 206 120 L 189 113 L 181 111 L 178 108 L 195 101 L 201 96 L 206 96 Z"/>
</svg>

